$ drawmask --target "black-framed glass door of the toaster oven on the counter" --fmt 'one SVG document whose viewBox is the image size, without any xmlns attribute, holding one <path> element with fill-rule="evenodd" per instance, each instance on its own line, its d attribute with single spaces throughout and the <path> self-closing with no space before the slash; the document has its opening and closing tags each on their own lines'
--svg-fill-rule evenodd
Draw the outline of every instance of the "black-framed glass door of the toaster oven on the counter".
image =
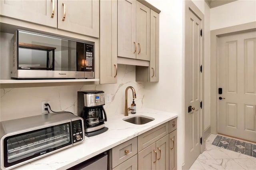
<svg viewBox="0 0 256 170">
<path fill-rule="evenodd" d="M 4 139 L 4 166 L 9 167 L 72 144 L 69 123 L 8 136 Z"/>
</svg>

